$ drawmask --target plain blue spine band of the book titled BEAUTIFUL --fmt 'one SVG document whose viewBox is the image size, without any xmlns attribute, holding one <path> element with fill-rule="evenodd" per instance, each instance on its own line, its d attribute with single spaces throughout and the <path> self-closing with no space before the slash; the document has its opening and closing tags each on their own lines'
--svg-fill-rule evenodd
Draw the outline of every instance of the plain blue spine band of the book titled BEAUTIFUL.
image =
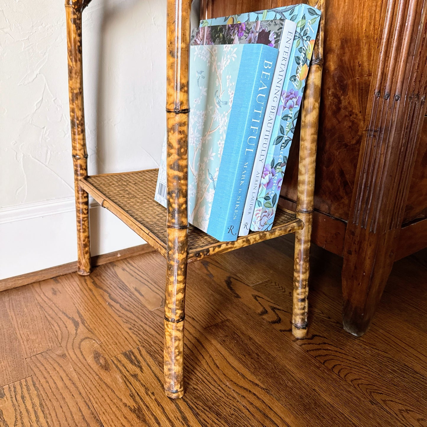
<svg viewBox="0 0 427 427">
<path fill-rule="evenodd" d="M 277 56 L 262 44 L 243 47 L 207 230 L 220 241 L 239 233 Z"/>
</svg>

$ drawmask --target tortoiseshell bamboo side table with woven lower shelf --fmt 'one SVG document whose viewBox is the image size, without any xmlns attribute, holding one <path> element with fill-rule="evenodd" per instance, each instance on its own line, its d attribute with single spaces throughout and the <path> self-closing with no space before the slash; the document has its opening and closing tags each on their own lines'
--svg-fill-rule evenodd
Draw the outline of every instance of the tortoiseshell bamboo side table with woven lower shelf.
<svg viewBox="0 0 427 427">
<path fill-rule="evenodd" d="M 313 191 L 322 82 L 324 13 L 301 111 L 296 212 L 278 209 L 271 231 L 219 242 L 188 224 L 187 130 L 190 0 L 167 2 L 167 210 L 154 201 L 158 170 L 88 176 L 82 81 L 82 12 L 91 0 L 66 0 L 68 86 L 76 196 L 78 273 L 91 272 L 88 194 L 114 213 L 167 260 L 164 304 L 164 389 L 184 394 L 184 304 L 187 264 L 295 232 L 292 333 L 307 334 L 307 294 Z M 324 9 L 324 0 L 309 0 Z"/>
</svg>

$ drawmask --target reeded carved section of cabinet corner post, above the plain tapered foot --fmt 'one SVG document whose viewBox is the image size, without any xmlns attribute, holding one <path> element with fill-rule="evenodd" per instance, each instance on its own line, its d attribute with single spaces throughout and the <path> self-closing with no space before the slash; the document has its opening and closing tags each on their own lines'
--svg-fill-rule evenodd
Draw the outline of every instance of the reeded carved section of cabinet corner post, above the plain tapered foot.
<svg viewBox="0 0 427 427">
<path fill-rule="evenodd" d="M 401 226 L 425 113 L 425 14 L 424 0 L 388 0 L 386 5 L 352 218 L 373 232 Z"/>
</svg>

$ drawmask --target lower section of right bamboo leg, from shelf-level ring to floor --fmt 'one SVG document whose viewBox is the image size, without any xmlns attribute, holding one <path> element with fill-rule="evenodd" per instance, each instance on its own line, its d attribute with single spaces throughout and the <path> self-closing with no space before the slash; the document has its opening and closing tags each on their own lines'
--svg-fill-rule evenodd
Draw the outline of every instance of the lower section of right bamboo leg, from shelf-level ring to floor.
<svg viewBox="0 0 427 427">
<path fill-rule="evenodd" d="M 308 330 L 308 276 L 313 213 L 299 213 L 304 228 L 295 233 L 294 286 L 292 294 L 292 334 L 305 338 Z"/>
</svg>

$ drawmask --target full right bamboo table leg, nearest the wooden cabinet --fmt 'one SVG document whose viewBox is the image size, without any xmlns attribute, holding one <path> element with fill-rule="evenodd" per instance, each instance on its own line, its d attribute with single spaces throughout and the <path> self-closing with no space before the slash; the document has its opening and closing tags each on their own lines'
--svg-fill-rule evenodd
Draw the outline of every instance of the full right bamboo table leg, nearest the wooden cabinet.
<svg viewBox="0 0 427 427">
<path fill-rule="evenodd" d="M 308 276 L 310 270 L 310 242 L 313 222 L 320 89 L 322 85 L 323 31 L 325 26 L 324 0 L 310 0 L 308 4 L 320 9 L 322 11 L 322 18 L 314 45 L 301 111 L 296 217 L 304 223 L 304 228 L 295 232 L 292 307 L 292 333 L 295 338 L 304 338 L 307 335 L 308 328 Z"/>
</svg>

